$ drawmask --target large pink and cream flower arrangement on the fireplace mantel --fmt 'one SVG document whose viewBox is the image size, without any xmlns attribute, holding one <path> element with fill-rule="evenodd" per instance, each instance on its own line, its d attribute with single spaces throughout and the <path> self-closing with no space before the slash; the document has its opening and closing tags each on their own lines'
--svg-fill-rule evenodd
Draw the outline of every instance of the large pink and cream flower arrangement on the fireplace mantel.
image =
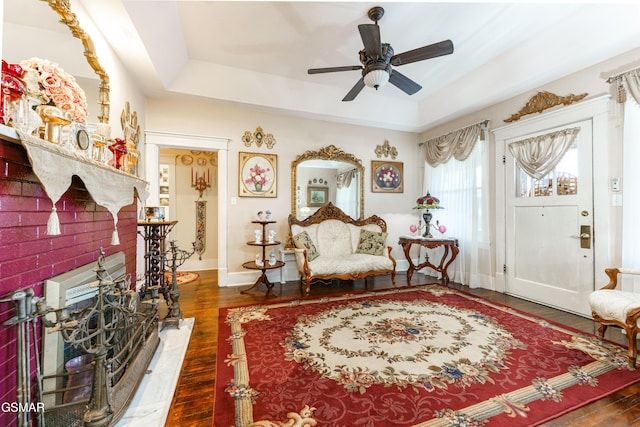
<svg viewBox="0 0 640 427">
<path fill-rule="evenodd" d="M 25 72 L 22 78 L 27 86 L 27 96 L 68 112 L 74 122 L 87 123 L 87 98 L 71 74 L 40 58 L 24 60 L 20 66 Z"/>
</svg>

